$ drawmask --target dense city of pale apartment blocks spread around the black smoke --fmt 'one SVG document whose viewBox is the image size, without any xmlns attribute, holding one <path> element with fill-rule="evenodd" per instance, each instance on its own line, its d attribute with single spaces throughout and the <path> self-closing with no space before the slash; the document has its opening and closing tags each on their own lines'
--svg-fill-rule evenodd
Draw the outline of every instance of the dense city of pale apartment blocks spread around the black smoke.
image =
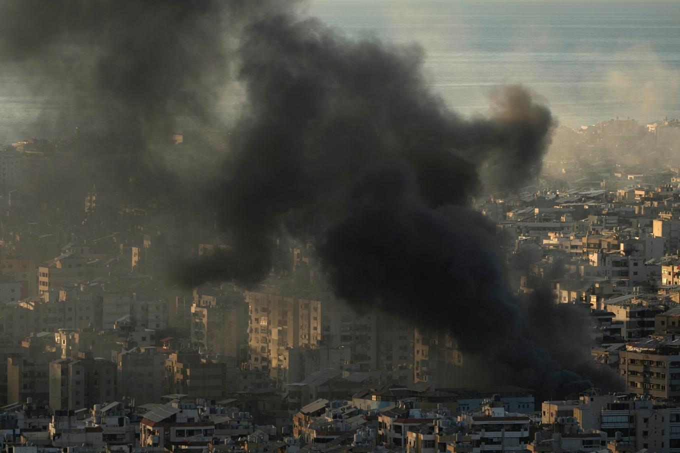
<svg viewBox="0 0 680 453">
<path fill-rule="evenodd" d="M 29 190 L 31 175 L 77 171 L 86 140 L 0 154 L 5 451 L 680 449 L 680 121 L 557 129 L 530 184 L 473 201 L 505 238 L 517 297 L 576 307 L 587 338 L 565 338 L 571 353 L 618 376 L 562 394 L 459 380 L 479 358 L 389 311 L 357 314 L 328 290 L 313 237 L 271 237 L 277 261 L 255 286 L 177 284 L 177 256 L 226 246 L 105 186 Z M 177 155 L 188 140 L 167 137 Z"/>
</svg>

